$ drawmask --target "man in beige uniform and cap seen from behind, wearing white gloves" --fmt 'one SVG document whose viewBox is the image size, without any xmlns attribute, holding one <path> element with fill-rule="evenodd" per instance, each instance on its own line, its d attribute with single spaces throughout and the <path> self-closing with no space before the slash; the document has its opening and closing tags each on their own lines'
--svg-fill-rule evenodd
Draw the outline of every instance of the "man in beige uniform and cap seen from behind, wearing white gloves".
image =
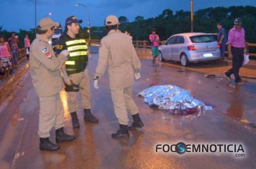
<svg viewBox="0 0 256 169">
<path fill-rule="evenodd" d="M 129 137 L 128 129 L 144 126 L 139 111 L 132 99 L 132 85 L 140 78 L 140 60 L 132 42 L 118 30 L 119 21 L 116 16 L 106 18 L 108 35 L 101 39 L 99 61 L 94 75 L 94 87 L 98 88 L 98 79 L 104 74 L 108 64 L 108 75 L 114 111 L 120 129 L 112 134 L 113 138 Z M 132 114 L 133 122 L 128 128 L 127 111 Z"/>
</svg>

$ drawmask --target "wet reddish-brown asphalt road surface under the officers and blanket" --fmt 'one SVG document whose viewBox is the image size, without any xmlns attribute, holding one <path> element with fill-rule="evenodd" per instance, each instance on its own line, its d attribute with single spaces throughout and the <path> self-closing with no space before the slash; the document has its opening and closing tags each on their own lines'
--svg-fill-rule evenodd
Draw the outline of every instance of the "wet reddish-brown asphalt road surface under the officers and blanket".
<svg viewBox="0 0 256 169">
<path fill-rule="evenodd" d="M 97 56 L 94 53 L 89 59 L 91 77 Z M 254 90 L 246 90 L 246 86 L 253 87 L 256 83 L 246 82 L 245 86 L 234 89 L 226 79 L 218 81 L 218 78 L 204 77 L 203 73 L 177 71 L 181 69 L 171 63 L 152 67 L 150 61 L 142 61 L 141 78 L 135 81 L 133 96 L 145 127 L 130 132 L 129 139 L 111 138 L 118 122 L 113 113 L 107 72 L 100 79 L 100 89 L 94 89 L 91 81 L 92 112 L 100 120 L 97 124 L 83 121 L 83 110 L 78 104 L 80 129 L 73 129 L 67 112 L 67 95 L 61 92 L 65 129 L 75 134 L 76 140 L 60 143 L 60 150 L 55 152 L 39 150 L 39 100 L 28 71 L 17 90 L 1 103 L 0 168 L 256 168 L 256 128 L 249 125 L 256 124 L 256 96 Z M 214 110 L 190 120 L 164 119 L 163 111 L 148 107 L 137 94 L 150 86 L 166 84 L 190 91 L 194 98 Z M 50 139 L 55 140 L 53 130 Z M 156 144 L 178 142 L 243 144 L 245 157 L 234 157 L 233 153 L 155 153 Z"/>
</svg>

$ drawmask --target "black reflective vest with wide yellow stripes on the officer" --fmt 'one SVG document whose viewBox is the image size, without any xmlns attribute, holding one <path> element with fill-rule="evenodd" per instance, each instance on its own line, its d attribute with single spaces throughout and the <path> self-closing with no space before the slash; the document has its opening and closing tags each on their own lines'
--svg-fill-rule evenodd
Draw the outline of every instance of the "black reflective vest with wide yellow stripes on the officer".
<svg viewBox="0 0 256 169">
<path fill-rule="evenodd" d="M 84 71 L 88 62 L 88 47 L 85 43 L 85 40 L 68 39 L 68 41 L 66 41 L 65 43 L 67 45 L 70 56 L 65 63 L 68 75 Z"/>
</svg>

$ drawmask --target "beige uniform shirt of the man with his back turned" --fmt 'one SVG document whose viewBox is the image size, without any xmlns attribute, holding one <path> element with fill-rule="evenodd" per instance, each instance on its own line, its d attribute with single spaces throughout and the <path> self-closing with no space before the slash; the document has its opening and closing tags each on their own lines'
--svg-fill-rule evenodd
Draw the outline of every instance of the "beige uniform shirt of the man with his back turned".
<svg viewBox="0 0 256 169">
<path fill-rule="evenodd" d="M 131 86 L 134 72 L 140 70 L 140 60 L 131 39 L 119 30 L 111 30 L 101 39 L 94 79 L 104 74 L 107 64 L 110 89 Z"/>
</svg>

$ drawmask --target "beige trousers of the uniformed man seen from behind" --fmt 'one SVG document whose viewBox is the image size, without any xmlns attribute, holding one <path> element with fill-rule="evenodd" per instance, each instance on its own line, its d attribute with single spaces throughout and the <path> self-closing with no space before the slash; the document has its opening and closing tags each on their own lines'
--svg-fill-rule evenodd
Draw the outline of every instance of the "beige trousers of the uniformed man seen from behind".
<svg viewBox="0 0 256 169">
<path fill-rule="evenodd" d="M 139 113 L 138 107 L 132 99 L 132 86 L 124 89 L 111 89 L 114 111 L 119 124 L 128 125 L 128 114 Z"/>
</svg>

